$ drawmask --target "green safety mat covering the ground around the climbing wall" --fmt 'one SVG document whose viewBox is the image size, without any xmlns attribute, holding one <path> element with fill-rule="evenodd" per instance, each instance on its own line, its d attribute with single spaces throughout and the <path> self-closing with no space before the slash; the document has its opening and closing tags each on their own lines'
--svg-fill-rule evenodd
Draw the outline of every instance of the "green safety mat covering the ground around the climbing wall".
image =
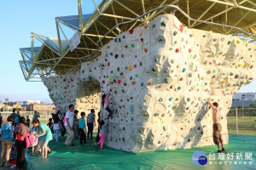
<svg viewBox="0 0 256 170">
<path fill-rule="evenodd" d="M 40 169 L 52 169 L 52 170 L 81 170 L 81 169 L 256 169 L 256 136 L 249 135 L 230 135 L 230 144 L 225 144 L 225 156 L 228 152 L 234 153 L 233 161 L 228 161 L 226 158 L 224 162 L 220 164 L 218 160 L 218 154 L 216 153 L 217 146 L 203 146 L 187 150 L 159 150 L 154 152 L 143 153 L 130 153 L 121 150 L 113 150 L 104 145 L 103 150 L 97 146 L 94 142 L 95 138 L 88 141 L 87 145 L 79 145 L 77 139 L 74 147 L 64 146 L 64 140 L 59 143 L 51 141 L 49 147 L 53 150 L 49 154 L 47 160 L 43 160 L 40 156 L 33 156 L 27 150 L 26 161 L 27 169 L 40 170 Z M 207 164 L 195 165 L 191 156 L 195 150 L 203 151 L 207 156 Z M 252 153 L 252 164 L 249 161 L 244 164 L 245 153 Z M 209 154 L 215 153 L 215 161 L 211 160 L 210 164 Z M 242 164 L 234 163 L 236 161 L 236 153 L 243 155 Z M 248 158 L 250 159 L 250 158 Z M 240 163 L 241 163 L 240 162 Z"/>
</svg>

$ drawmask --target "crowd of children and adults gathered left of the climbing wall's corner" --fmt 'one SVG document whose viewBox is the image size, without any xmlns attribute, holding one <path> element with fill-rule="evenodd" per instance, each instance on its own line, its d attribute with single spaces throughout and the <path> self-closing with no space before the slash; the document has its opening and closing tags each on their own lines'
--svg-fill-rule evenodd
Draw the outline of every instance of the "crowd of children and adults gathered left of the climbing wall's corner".
<svg viewBox="0 0 256 170">
<path fill-rule="evenodd" d="M 102 95 L 102 107 L 104 110 L 108 111 L 108 118 L 107 120 L 101 119 L 101 114 L 99 112 L 99 127 L 98 127 L 98 134 L 101 149 L 103 148 L 104 144 L 104 136 L 105 136 L 105 128 L 108 125 L 108 119 L 112 116 L 112 111 L 109 109 L 109 97 L 110 91 L 108 94 Z M 2 153 L 1 153 L 1 166 L 9 167 L 11 166 L 9 162 L 9 155 L 10 151 L 13 146 L 13 142 L 15 141 L 16 151 L 17 151 L 17 169 L 22 169 L 25 165 L 25 154 L 27 148 L 27 141 L 28 136 L 33 136 L 38 139 L 37 147 L 35 152 L 42 153 L 42 158 L 47 158 L 48 152 L 51 150 L 48 147 L 48 143 L 50 140 L 55 138 L 55 142 L 58 142 L 59 137 L 59 130 L 61 130 L 61 137 L 67 133 L 67 139 L 65 141 L 66 145 L 72 144 L 72 140 L 75 137 L 80 137 L 80 144 L 86 144 L 86 123 L 85 123 L 85 113 L 81 112 L 81 118 L 78 119 L 79 111 L 74 111 L 74 105 L 69 105 L 69 111 L 65 114 L 62 120 L 59 117 L 60 111 L 57 113 L 52 114 L 52 118 L 49 119 L 49 123 L 45 125 L 38 120 L 40 115 L 37 111 L 34 112 L 32 118 L 33 127 L 30 129 L 30 119 L 29 116 L 20 116 L 19 113 L 15 113 L 15 110 L 7 118 L 7 122 L 3 124 L 1 129 L 1 138 L 2 141 Z M 87 139 L 92 139 L 93 127 L 96 126 L 95 121 L 95 111 L 93 109 L 90 110 L 90 114 L 88 114 L 87 118 Z M 2 118 L 2 116 L 1 116 Z M 0 122 L 1 123 L 1 122 Z M 1 123 L 2 124 L 2 123 Z M 53 137 L 54 134 L 54 137 Z M 31 141 L 29 141 L 31 142 Z M 73 145 L 73 144 L 72 144 Z M 32 145 L 34 148 L 35 145 Z M 3 159 L 5 157 L 5 163 Z"/>
</svg>

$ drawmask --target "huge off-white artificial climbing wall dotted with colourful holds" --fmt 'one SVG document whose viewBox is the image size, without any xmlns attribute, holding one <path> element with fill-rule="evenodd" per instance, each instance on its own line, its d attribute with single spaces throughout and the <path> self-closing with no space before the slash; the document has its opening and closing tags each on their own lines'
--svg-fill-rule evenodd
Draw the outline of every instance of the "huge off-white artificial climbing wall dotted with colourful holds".
<svg viewBox="0 0 256 170">
<path fill-rule="evenodd" d="M 188 29 L 164 14 L 121 33 L 80 72 L 45 78 L 44 84 L 57 109 L 73 103 L 87 114 L 99 111 L 100 96 L 111 88 L 106 144 L 133 152 L 212 145 L 211 97 L 227 144 L 232 95 L 256 76 L 255 51 L 253 43 Z"/>
</svg>

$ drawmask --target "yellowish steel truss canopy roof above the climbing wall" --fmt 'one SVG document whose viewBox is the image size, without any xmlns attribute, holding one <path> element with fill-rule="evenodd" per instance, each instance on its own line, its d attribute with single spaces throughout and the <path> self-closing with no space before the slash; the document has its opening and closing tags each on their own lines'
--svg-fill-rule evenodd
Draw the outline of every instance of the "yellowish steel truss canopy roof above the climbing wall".
<svg viewBox="0 0 256 170">
<path fill-rule="evenodd" d="M 160 14 L 175 14 L 189 28 L 256 42 L 256 0 L 86 0 L 86 4 L 88 1 L 95 5 L 92 14 L 83 14 L 86 8 L 78 0 L 78 15 L 55 18 L 58 37 L 32 32 L 31 48 L 20 48 L 20 68 L 26 81 L 78 71 L 81 63 L 95 59 L 122 31 L 143 26 Z M 71 52 L 68 44 L 75 32 L 80 43 Z"/>
</svg>

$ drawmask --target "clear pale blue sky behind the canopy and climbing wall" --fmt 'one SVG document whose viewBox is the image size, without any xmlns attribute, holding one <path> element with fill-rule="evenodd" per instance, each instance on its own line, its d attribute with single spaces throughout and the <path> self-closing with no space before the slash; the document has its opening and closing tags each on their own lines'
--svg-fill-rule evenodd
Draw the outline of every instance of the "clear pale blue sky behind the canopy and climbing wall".
<svg viewBox="0 0 256 170">
<path fill-rule="evenodd" d="M 87 3 L 85 7 L 91 5 Z M 74 14 L 78 14 L 77 0 L 0 1 L 0 101 L 9 98 L 9 101 L 52 102 L 43 82 L 25 81 L 19 65 L 22 59 L 19 48 L 31 46 L 32 31 L 57 37 L 55 17 Z M 239 92 L 256 92 L 255 87 L 256 80 Z"/>
</svg>

